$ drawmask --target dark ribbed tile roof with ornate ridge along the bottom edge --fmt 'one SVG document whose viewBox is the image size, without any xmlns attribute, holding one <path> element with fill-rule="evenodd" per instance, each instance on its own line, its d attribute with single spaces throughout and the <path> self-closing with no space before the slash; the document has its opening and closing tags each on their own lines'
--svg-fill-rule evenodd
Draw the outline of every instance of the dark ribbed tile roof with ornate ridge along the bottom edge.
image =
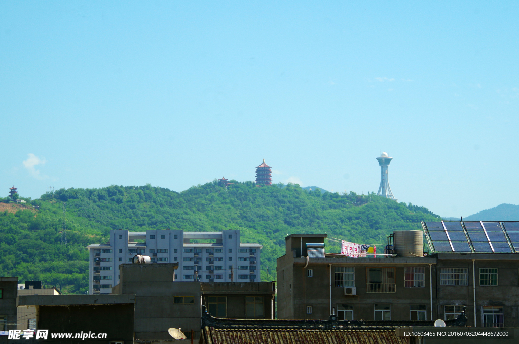
<svg viewBox="0 0 519 344">
<path fill-rule="evenodd" d="M 394 330 L 215 329 L 204 327 L 200 344 L 407 344 Z"/>
</svg>

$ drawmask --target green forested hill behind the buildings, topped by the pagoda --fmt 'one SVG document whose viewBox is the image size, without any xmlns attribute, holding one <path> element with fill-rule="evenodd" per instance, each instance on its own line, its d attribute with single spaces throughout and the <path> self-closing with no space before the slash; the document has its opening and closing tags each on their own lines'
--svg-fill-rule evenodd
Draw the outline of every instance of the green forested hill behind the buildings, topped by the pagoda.
<svg viewBox="0 0 519 344">
<path fill-rule="evenodd" d="M 111 229 L 145 231 L 240 229 L 242 242 L 262 249 L 262 280 L 275 279 L 276 258 L 284 254 L 284 237 L 292 233 L 327 233 L 329 237 L 384 244 L 393 230 L 420 229 L 420 220 L 438 220 L 427 208 L 397 203 L 372 194 L 346 195 L 303 190 L 289 184 L 256 187 L 237 182 L 228 189 L 217 182 L 183 192 L 152 187 L 111 186 L 62 189 L 40 208 L 0 213 L 0 273 L 21 281 L 43 280 L 66 293 L 87 289 L 86 245 L 106 242 Z M 67 245 L 60 244 L 66 202 Z M 326 252 L 338 252 L 326 242 Z"/>
</svg>

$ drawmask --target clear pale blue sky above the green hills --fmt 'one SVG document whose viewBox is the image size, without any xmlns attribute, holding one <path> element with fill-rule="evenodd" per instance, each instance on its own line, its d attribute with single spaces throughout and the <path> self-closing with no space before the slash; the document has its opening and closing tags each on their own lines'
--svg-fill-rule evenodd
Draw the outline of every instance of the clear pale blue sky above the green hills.
<svg viewBox="0 0 519 344">
<path fill-rule="evenodd" d="M 0 189 L 214 178 L 518 204 L 517 2 L 0 2 Z"/>
</svg>

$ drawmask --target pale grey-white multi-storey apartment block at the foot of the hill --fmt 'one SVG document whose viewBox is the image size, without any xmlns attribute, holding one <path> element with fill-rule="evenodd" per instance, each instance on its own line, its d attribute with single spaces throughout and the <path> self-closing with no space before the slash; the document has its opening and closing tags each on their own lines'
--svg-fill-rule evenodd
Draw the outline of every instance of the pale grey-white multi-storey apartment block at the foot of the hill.
<svg viewBox="0 0 519 344">
<path fill-rule="evenodd" d="M 179 263 L 175 281 L 259 282 L 260 244 L 240 243 L 240 231 L 184 232 L 113 230 L 110 242 L 91 244 L 89 294 L 110 294 L 119 283 L 119 265 L 134 255 L 152 263 Z"/>
</svg>

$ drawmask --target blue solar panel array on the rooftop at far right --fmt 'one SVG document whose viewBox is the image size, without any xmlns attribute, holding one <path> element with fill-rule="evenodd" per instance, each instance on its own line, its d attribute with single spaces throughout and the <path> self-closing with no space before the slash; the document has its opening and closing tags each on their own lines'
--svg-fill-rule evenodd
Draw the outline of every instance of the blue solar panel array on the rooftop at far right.
<svg viewBox="0 0 519 344">
<path fill-rule="evenodd" d="M 519 253 L 519 221 L 422 222 L 433 252 Z"/>
</svg>

